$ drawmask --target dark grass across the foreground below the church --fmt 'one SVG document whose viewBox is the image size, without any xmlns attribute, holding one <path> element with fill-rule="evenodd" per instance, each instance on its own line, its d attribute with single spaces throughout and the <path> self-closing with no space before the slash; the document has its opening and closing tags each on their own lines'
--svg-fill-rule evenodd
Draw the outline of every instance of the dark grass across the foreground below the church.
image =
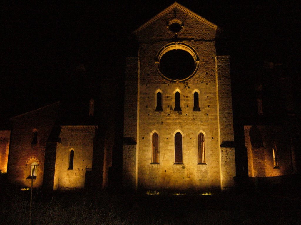
<svg viewBox="0 0 301 225">
<path fill-rule="evenodd" d="M 6 190 L 0 224 L 28 224 L 28 191 Z M 300 202 L 269 195 L 34 192 L 32 224 L 299 224 Z"/>
</svg>

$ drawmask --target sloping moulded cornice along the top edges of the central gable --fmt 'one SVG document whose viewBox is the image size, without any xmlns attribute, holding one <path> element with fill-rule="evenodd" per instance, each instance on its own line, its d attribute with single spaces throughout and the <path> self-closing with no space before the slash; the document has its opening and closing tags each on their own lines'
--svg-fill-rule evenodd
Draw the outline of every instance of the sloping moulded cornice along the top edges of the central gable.
<svg viewBox="0 0 301 225">
<path fill-rule="evenodd" d="M 203 18 L 202 16 L 199 16 L 198 14 L 194 13 L 193 11 L 189 10 L 188 8 L 182 6 L 181 4 L 179 4 L 178 2 L 175 1 L 172 5 L 170 5 L 169 7 L 167 7 L 165 10 L 163 10 L 162 12 L 160 12 L 159 14 L 157 14 L 156 16 L 154 16 L 152 19 L 150 19 L 149 21 L 147 21 L 146 23 L 144 23 L 137 30 L 135 30 L 134 34 L 138 34 L 141 30 L 143 30 L 144 28 L 146 28 L 147 26 L 149 26 L 150 24 L 152 24 L 153 22 L 155 22 L 157 19 L 160 19 L 162 16 L 166 15 L 167 13 L 170 13 L 170 11 L 172 11 L 174 8 L 182 10 L 183 12 L 185 12 L 188 15 L 190 15 L 190 16 L 196 18 L 197 20 L 203 22 L 204 24 L 206 24 L 207 26 L 211 27 L 212 29 L 217 30 L 217 26 L 214 23 L 212 23 L 209 20 Z"/>
</svg>

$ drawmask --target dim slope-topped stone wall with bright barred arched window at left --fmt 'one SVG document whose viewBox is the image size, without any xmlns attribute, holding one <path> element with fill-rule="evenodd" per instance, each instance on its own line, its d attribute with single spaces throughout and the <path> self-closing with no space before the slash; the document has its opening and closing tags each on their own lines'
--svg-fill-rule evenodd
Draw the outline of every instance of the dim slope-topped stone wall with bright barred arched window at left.
<svg viewBox="0 0 301 225">
<path fill-rule="evenodd" d="M 8 180 L 11 183 L 30 187 L 31 164 L 38 163 L 34 187 L 41 187 L 43 182 L 45 146 L 54 127 L 60 108 L 55 103 L 11 119 L 11 140 L 8 158 Z M 33 142 L 34 132 L 37 131 L 36 144 Z"/>
</svg>

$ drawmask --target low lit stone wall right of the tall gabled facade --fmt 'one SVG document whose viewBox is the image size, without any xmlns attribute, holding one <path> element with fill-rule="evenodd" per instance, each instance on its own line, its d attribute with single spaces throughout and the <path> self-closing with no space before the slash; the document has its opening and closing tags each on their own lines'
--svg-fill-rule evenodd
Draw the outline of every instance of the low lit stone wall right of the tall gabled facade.
<svg viewBox="0 0 301 225">
<path fill-rule="evenodd" d="M 285 129 L 280 126 L 244 126 L 244 135 L 250 177 L 282 176 L 294 172 L 290 137 Z M 275 145 L 279 168 L 274 167 Z"/>
</svg>

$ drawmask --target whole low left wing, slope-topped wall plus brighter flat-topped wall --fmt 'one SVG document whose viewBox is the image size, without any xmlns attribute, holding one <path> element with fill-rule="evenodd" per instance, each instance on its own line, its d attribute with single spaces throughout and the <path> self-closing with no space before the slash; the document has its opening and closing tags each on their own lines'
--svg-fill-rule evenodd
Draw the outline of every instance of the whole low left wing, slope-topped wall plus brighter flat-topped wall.
<svg viewBox="0 0 301 225">
<path fill-rule="evenodd" d="M 43 186 L 44 190 L 51 191 L 91 187 L 95 182 L 98 186 L 107 187 L 108 170 L 112 165 L 113 126 L 108 129 L 106 137 L 96 138 L 96 152 L 102 151 L 101 157 L 95 158 L 95 164 L 100 165 L 98 175 L 101 174 L 101 177 L 93 180 L 95 174 L 92 174 L 92 158 L 97 127 L 60 127 L 60 113 L 61 104 L 56 103 L 11 119 L 9 181 L 12 184 L 30 187 L 31 164 L 35 162 L 38 169 L 33 180 L 34 187 Z M 9 133 L 6 136 L 9 140 Z M 4 137 L 2 139 L 4 140 Z M 74 151 L 74 163 L 73 170 L 68 170 L 71 149 Z"/>
</svg>

